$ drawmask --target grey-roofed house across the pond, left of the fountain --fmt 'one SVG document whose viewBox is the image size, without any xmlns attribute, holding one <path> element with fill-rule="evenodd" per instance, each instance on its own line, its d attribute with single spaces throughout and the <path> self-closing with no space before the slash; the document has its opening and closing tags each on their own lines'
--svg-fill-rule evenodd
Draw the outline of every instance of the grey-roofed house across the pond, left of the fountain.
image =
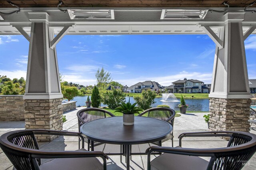
<svg viewBox="0 0 256 170">
<path fill-rule="evenodd" d="M 137 84 L 134 84 L 133 86 L 130 86 L 127 89 L 127 92 L 130 93 L 141 93 L 142 90 L 154 90 L 154 91 L 164 91 L 164 87 L 161 86 L 158 82 L 152 82 L 152 81 L 145 81 L 145 82 L 138 82 Z"/>
</svg>

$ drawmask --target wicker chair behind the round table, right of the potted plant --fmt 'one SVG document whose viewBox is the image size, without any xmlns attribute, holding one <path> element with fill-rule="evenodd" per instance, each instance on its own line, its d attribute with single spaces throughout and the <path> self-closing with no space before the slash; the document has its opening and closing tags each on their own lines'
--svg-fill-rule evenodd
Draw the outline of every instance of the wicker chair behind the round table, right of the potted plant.
<svg viewBox="0 0 256 170">
<path fill-rule="evenodd" d="M 176 114 L 174 109 L 170 109 L 168 107 L 154 107 L 154 108 L 147 109 L 147 110 L 143 111 L 138 116 L 143 116 L 146 113 L 148 114 L 147 115 L 148 117 L 166 121 L 166 122 L 170 123 L 172 125 L 172 127 L 174 126 L 174 117 Z M 169 139 L 172 140 L 172 147 L 173 147 L 173 131 L 172 131 L 172 135 L 170 137 L 162 140 L 162 143 L 165 141 L 168 141 Z"/>
</svg>

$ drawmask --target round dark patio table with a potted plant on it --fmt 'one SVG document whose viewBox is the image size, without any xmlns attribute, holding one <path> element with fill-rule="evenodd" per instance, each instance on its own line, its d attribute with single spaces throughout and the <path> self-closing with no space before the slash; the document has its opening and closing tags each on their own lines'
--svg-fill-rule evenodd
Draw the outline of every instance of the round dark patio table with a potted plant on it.
<svg viewBox="0 0 256 170">
<path fill-rule="evenodd" d="M 135 116 L 134 125 L 123 125 L 123 117 L 106 117 L 81 126 L 81 133 L 91 141 L 124 145 L 126 169 L 130 169 L 130 146 L 152 143 L 169 137 L 172 125 L 150 117 Z M 93 142 L 92 142 L 93 150 Z"/>
</svg>

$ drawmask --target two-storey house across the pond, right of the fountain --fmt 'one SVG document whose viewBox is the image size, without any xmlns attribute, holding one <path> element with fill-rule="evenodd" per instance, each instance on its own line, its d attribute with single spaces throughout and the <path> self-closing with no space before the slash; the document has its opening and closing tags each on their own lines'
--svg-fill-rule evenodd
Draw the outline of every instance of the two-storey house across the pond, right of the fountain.
<svg viewBox="0 0 256 170">
<path fill-rule="evenodd" d="M 208 93 L 208 87 L 203 86 L 204 82 L 199 80 L 184 78 L 184 80 L 177 80 L 172 82 L 172 86 L 168 86 L 166 89 L 173 93 Z"/>
</svg>

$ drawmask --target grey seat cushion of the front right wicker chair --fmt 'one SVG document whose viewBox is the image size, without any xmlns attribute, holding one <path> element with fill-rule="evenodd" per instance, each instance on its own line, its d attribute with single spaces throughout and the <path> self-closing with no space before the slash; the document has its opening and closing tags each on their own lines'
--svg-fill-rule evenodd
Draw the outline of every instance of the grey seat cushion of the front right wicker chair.
<svg viewBox="0 0 256 170">
<path fill-rule="evenodd" d="M 198 156 L 164 153 L 151 161 L 151 170 L 206 170 L 208 163 Z"/>
</svg>

